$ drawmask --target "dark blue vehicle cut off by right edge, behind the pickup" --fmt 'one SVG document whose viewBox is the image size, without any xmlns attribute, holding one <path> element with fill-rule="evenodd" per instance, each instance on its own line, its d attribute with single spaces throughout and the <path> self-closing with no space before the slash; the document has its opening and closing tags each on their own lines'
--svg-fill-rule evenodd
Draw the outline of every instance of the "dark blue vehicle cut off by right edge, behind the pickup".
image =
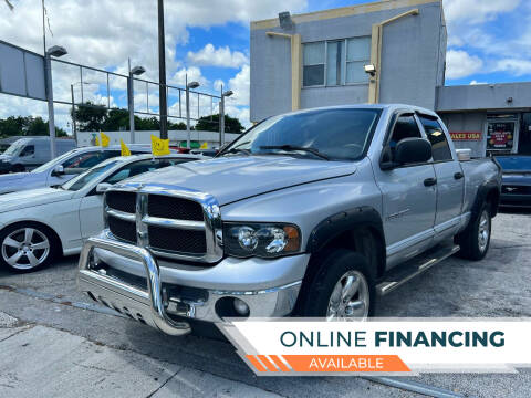
<svg viewBox="0 0 531 398">
<path fill-rule="evenodd" d="M 500 206 L 531 207 L 531 156 L 497 156 L 502 169 Z"/>
</svg>

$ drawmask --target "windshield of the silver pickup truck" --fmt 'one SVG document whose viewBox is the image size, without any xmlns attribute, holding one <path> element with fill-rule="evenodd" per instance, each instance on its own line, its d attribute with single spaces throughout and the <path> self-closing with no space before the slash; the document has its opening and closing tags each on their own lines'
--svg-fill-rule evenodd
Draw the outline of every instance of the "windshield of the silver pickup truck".
<svg viewBox="0 0 531 398">
<path fill-rule="evenodd" d="M 357 159 L 379 113 L 373 108 L 330 108 L 273 116 L 241 135 L 221 156 L 296 154 L 313 159 Z M 277 146 L 282 148 L 271 148 Z M 314 150 L 321 156 L 312 154 Z"/>
</svg>

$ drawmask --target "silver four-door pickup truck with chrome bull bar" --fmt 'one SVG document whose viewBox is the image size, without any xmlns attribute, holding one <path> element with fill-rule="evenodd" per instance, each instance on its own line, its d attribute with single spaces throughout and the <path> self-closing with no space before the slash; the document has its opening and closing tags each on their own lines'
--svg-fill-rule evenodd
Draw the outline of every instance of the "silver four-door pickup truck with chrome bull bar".
<svg viewBox="0 0 531 398">
<path fill-rule="evenodd" d="M 79 286 L 170 335 L 226 317 L 373 316 L 378 295 L 449 255 L 486 255 L 500 180 L 428 109 L 270 117 L 215 159 L 106 191 Z"/>
</svg>

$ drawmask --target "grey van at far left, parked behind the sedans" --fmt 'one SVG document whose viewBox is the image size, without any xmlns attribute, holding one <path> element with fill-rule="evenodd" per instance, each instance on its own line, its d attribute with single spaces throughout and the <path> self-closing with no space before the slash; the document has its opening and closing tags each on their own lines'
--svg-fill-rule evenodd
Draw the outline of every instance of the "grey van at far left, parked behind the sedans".
<svg viewBox="0 0 531 398">
<path fill-rule="evenodd" d="M 75 140 L 55 139 L 56 155 L 75 148 Z M 50 137 L 20 138 L 0 155 L 0 174 L 31 170 L 50 161 Z"/>
</svg>

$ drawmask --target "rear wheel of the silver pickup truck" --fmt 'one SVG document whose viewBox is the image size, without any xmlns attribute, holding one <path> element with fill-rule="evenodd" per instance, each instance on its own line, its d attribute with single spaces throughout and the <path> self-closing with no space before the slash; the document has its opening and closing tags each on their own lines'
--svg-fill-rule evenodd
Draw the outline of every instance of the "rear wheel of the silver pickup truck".
<svg viewBox="0 0 531 398">
<path fill-rule="evenodd" d="M 491 229 L 491 207 L 485 201 L 467 229 L 456 237 L 456 243 L 461 247 L 457 255 L 472 261 L 483 259 L 489 251 Z"/>
</svg>

